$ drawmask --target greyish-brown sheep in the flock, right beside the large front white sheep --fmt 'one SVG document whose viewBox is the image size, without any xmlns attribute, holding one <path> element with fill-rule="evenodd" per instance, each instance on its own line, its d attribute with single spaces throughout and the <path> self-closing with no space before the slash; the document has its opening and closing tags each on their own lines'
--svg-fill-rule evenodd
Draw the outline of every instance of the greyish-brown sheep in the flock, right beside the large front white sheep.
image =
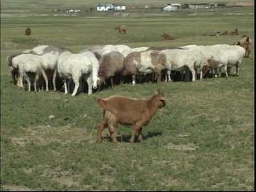
<svg viewBox="0 0 256 192">
<path fill-rule="evenodd" d="M 104 54 L 100 59 L 100 68 L 99 68 L 99 90 L 102 84 L 106 85 L 106 80 L 110 78 L 111 87 L 114 87 L 114 76 L 122 77 L 124 70 L 124 56 L 122 53 L 117 51 L 111 51 L 107 54 Z"/>
</svg>

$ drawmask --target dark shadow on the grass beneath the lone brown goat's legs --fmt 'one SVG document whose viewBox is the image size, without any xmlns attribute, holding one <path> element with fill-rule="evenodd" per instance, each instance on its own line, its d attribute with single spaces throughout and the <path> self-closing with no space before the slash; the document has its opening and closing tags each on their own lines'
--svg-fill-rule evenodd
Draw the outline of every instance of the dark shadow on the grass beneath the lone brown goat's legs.
<svg viewBox="0 0 256 192">
<path fill-rule="evenodd" d="M 149 138 L 157 137 L 159 135 L 162 135 L 162 132 L 159 132 L 159 131 L 148 132 L 146 135 L 142 135 L 142 138 L 143 138 L 143 140 L 147 140 Z M 109 141 L 112 142 L 110 136 L 102 137 L 102 139 L 108 139 Z M 131 135 L 117 135 L 116 139 L 118 142 L 130 142 Z M 142 142 L 143 142 L 143 140 L 142 140 Z M 137 142 L 140 142 L 138 140 L 138 136 L 136 136 L 134 139 L 134 143 L 137 143 Z"/>
</svg>

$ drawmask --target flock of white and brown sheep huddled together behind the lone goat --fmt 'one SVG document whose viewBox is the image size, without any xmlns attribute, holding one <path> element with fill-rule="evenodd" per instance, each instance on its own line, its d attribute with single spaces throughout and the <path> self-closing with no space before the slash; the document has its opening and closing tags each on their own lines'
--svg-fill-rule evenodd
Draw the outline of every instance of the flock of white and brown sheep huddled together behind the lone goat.
<svg viewBox="0 0 256 192">
<path fill-rule="evenodd" d="M 7 57 L 11 69 L 13 83 L 18 87 L 27 82 L 28 91 L 34 83 L 34 91 L 49 91 L 52 82 L 53 90 L 61 89 L 64 84 L 65 94 L 73 89 L 72 96 L 84 89 L 85 82 L 88 94 L 93 89 L 101 89 L 110 80 L 114 85 L 114 77 L 124 81 L 124 77 L 132 77 L 132 84 L 137 76 L 152 75 L 156 82 L 171 81 L 171 71 L 185 71 L 192 74 L 195 82 L 207 76 L 211 71 L 216 77 L 222 72 L 230 75 L 231 67 L 239 65 L 244 57 L 249 57 L 251 42 L 243 36 L 236 45 L 187 45 L 182 47 L 137 47 L 127 45 L 92 46 L 79 53 L 68 49 L 39 45 L 34 49 L 23 51 Z"/>
</svg>

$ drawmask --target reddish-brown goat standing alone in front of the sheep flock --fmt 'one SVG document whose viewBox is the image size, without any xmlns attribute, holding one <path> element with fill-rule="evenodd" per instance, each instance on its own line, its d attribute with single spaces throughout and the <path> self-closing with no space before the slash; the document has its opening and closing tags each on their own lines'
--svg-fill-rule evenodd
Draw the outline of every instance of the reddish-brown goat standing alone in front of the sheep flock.
<svg viewBox="0 0 256 192">
<path fill-rule="evenodd" d="M 108 127 L 111 139 L 116 140 L 116 124 L 133 125 L 130 143 L 134 142 L 138 133 L 139 141 L 142 141 L 142 126 L 147 125 L 159 108 L 165 106 L 164 94 L 153 95 L 149 100 L 131 99 L 122 96 L 113 96 L 107 99 L 97 99 L 103 109 L 103 119 L 98 127 L 98 142 L 102 142 L 102 131 Z"/>
</svg>

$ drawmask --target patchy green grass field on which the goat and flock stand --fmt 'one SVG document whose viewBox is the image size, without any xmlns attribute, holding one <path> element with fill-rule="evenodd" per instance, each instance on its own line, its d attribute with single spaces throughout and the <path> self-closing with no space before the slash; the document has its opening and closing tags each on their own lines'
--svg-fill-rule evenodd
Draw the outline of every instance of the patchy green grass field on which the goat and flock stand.
<svg viewBox="0 0 256 192">
<path fill-rule="evenodd" d="M 59 2 L 41 1 L 35 9 Z M 1 12 L 34 10 L 16 3 L 1 0 Z M 121 24 L 127 26 L 126 35 L 114 30 Z M 253 25 L 252 7 L 171 17 L 1 15 L 1 190 L 255 190 L 253 52 L 238 77 L 123 84 L 76 97 L 19 90 L 6 65 L 7 55 L 45 44 L 74 52 L 96 44 L 232 44 L 240 35 L 202 34 L 234 28 L 252 37 L 254 51 Z M 27 26 L 31 36 L 24 35 Z M 163 41 L 163 30 L 176 39 Z M 114 145 L 107 130 L 102 145 L 95 142 L 102 110 L 94 98 L 149 98 L 158 88 L 168 101 L 144 127 L 141 143 L 129 144 L 127 126 L 117 129 L 122 142 Z"/>
</svg>

